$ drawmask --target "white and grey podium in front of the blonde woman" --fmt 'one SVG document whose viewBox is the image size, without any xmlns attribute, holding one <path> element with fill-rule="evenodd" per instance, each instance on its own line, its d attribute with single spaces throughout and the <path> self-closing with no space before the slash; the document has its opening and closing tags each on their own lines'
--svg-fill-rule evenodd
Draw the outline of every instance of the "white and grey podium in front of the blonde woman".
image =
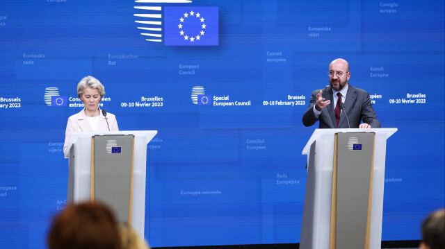
<svg viewBox="0 0 445 249">
<path fill-rule="evenodd" d="M 156 130 L 72 132 L 67 203 L 100 201 L 144 236 L 147 144 Z"/>
</svg>

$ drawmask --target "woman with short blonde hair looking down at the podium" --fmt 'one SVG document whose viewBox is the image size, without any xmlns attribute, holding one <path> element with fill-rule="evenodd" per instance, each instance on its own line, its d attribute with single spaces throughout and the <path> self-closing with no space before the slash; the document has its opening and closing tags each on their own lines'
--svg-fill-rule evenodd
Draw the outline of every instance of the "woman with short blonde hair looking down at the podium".
<svg viewBox="0 0 445 249">
<path fill-rule="evenodd" d="M 105 131 L 108 130 L 108 126 L 110 126 L 110 130 L 112 131 L 119 130 L 116 117 L 111 113 L 107 113 L 107 125 L 106 119 L 99 109 L 99 103 L 104 95 L 104 85 L 102 85 L 97 78 L 87 76 L 77 84 L 77 96 L 79 96 L 85 108 L 68 119 L 63 153 L 67 150 L 71 132 Z"/>
</svg>

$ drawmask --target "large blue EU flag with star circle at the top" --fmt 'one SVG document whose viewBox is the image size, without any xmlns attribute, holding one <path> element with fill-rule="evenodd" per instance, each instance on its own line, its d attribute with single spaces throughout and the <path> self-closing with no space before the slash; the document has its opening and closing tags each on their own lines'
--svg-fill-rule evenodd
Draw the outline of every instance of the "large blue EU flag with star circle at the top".
<svg viewBox="0 0 445 249">
<path fill-rule="evenodd" d="M 165 7 L 165 46 L 218 46 L 218 7 Z"/>
</svg>

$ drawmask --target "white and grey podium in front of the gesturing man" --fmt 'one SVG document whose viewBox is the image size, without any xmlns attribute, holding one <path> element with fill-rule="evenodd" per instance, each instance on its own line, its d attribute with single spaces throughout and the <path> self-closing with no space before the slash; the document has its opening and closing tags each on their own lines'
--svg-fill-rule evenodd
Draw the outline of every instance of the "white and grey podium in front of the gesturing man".
<svg viewBox="0 0 445 249">
<path fill-rule="evenodd" d="M 381 247 L 386 141 L 396 131 L 314 131 L 302 151 L 307 183 L 301 249 Z"/>
</svg>

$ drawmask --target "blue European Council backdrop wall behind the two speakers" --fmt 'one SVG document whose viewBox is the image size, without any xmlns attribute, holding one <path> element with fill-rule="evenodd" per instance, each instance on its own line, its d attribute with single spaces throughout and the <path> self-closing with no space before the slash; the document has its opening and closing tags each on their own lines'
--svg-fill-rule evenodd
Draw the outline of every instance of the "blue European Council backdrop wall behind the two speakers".
<svg viewBox="0 0 445 249">
<path fill-rule="evenodd" d="M 0 248 L 46 248 L 88 75 L 120 130 L 159 131 L 151 246 L 298 243 L 301 151 L 318 127 L 301 119 L 335 58 L 382 127 L 398 128 L 382 240 L 420 239 L 422 218 L 444 207 L 444 1 L 1 1 Z M 66 102 L 45 102 L 51 91 Z"/>
</svg>

